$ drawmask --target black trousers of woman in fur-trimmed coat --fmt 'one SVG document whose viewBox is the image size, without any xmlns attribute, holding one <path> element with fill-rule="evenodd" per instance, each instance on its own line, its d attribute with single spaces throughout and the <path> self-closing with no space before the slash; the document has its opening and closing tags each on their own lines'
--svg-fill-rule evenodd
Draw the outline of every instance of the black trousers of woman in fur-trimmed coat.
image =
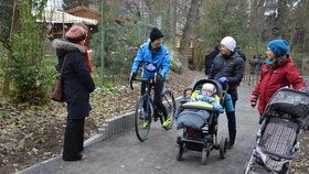
<svg viewBox="0 0 309 174">
<path fill-rule="evenodd" d="M 64 134 L 63 155 L 64 161 L 77 161 L 82 159 L 84 149 L 84 124 L 83 119 L 67 119 Z"/>
</svg>

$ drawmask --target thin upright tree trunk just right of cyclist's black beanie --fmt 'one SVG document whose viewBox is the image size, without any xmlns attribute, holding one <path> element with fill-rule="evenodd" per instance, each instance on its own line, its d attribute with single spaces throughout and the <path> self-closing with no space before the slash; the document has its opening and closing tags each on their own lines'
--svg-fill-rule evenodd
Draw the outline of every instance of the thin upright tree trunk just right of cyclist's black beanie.
<svg viewBox="0 0 309 174">
<path fill-rule="evenodd" d="M 175 46 L 177 0 L 170 0 L 170 42 Z"/>
</svg>

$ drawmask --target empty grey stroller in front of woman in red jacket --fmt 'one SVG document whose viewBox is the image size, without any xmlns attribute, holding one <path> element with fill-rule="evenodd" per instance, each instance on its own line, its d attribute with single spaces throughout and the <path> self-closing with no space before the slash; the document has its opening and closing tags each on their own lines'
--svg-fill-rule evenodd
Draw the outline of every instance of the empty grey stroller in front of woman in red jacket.
<svg viewBox="0 0 309 174">
<path fill-rule="evenodd" d="M 265 171 L 290 173 L 291 160 L 299 149 L 300 132 L 308 127 L 308 94 L 289 88 L 279 89 L 266 106 L 245 174 Z"/>
</svg>

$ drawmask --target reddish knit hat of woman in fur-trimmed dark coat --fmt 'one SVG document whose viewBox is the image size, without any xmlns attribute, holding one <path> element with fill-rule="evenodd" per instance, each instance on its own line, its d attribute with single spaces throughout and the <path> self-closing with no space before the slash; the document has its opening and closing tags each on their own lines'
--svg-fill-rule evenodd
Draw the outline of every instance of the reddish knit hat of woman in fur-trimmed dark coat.
<svg viewBox="0 0 309 174">
<path fill-rule="evenodd" d="M 79 26 L 73 25 L 66 33 L 65 39 L 73 43 L 78 43 L 87 37 L 87 31 Z"/>
</svg>

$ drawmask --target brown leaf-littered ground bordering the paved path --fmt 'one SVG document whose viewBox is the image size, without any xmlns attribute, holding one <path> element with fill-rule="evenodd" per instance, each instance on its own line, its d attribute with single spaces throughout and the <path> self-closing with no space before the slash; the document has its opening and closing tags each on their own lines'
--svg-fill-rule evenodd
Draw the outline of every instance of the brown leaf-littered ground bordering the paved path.
<svg viewBox="0 0 309 174">
<path fill-rule="evenodd" d="M 194 73 L 171 74 L 167 89 L 181 96 L 192 84 Z M 85 140 L 96 133 L 105 119 L 131 111 L 139 96 L 127 86 L 97 89 L 90 97 L 93 110 L 85 123 Z M 43 107 L 12 106 L 0 102 L 0 173 L 10 174 L 61 153 L 65 128 L 64 104 Z M 302 134 L 292 173 L 309 173 L 309 133 Z"/>
</svg>

